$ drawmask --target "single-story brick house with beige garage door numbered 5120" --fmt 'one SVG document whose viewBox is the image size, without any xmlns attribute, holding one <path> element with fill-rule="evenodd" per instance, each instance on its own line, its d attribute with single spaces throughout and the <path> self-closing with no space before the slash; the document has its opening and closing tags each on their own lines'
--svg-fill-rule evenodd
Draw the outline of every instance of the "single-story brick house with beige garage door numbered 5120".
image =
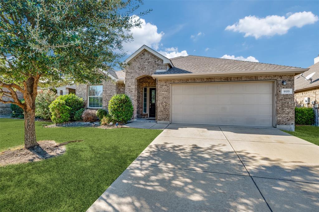
<svg viewBox="0 0 319 212">
<path fill-rule="evenodd" d="M 125 70 L 106 73 L 114 82 L 77 87 L 88 108 L 107 108 L 111 96 L 125 93 L 133 120 L 286 130 L 294 130 L 294 76 L 308 70 L 193 55 L 168 59 L 145 45 L 125 62 Z"/>
</svg>

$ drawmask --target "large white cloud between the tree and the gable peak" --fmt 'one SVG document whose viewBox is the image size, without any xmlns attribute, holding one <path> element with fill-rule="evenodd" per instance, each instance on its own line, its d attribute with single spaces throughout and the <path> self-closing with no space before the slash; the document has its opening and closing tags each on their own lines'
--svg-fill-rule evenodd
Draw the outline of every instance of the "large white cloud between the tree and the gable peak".
<svg viewBox="0 0 319 212">
<path fill-rule="evenodd" d="M 139 18 L 138 16 L 136 18 Z M 159 49 L 159 42 L 162 39 L 164 32 L 157 32 L 157 26 L 145 21 L 145 19 L 140 19 L 142 22 L 141 28 L 131 29 L 134 40 L 130 43 L 124 43 L 124 51 L 128 54 L 132 54 L 138 48 L 143 46 L 149 46 L 155 50 Z"/>
</svg>

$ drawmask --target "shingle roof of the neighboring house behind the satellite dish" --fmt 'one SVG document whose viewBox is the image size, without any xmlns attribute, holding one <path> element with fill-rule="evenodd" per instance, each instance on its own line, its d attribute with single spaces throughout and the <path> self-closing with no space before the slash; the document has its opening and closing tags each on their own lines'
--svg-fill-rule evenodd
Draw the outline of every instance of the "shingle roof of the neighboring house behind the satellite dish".
<svg viewBox="0 0 319 212">
<path fill-rule="evenodd" d="M 314 76 L 311 77 L 312 83 L 310 84 L 309 81 L 303 77 L 299 77 L 298 79 L 295 78 L 295 91 L 319 86 L 319 62 L 309 66 L 308 68 L 309 70 L 304 72 L 302 75 L 307 77 L 309 74 L 316 72 Z"/>
</svg>

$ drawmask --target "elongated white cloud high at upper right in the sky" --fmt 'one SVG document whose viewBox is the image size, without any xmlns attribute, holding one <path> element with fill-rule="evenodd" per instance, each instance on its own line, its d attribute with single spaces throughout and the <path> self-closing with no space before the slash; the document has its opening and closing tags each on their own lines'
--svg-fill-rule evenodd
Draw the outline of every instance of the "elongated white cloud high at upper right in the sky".
<svg viewBox="0 0 319 212">
<path fill-rule="evenodd" d="M 229 25 L 225 30 L 245 33 L 244 37 L 253 36 L 256 39 L 262 36 L 273 36 L 275 34 L 283 35 L 294 26 L 300 28 L 307 24 L 313 24 L 318 21 L 318 16 L 312 12 L 287 13 L 285 16 L 271 15 L 266 18 L 256 16 L 246 16 L 239 19 L 233 25 Z"/>
</svg>

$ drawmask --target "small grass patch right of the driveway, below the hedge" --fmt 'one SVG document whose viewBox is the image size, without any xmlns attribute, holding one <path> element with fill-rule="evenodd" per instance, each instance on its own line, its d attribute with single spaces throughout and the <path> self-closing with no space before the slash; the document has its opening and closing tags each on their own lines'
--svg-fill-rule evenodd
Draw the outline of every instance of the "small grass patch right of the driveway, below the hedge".
<svg viewBox="0 0 319 212">
<path fill-rule="evenodd" d="M 319 146 L 319 127 L 295 126 L 294 132 L 286 130 L 283 131 Z"/>
</svg>

